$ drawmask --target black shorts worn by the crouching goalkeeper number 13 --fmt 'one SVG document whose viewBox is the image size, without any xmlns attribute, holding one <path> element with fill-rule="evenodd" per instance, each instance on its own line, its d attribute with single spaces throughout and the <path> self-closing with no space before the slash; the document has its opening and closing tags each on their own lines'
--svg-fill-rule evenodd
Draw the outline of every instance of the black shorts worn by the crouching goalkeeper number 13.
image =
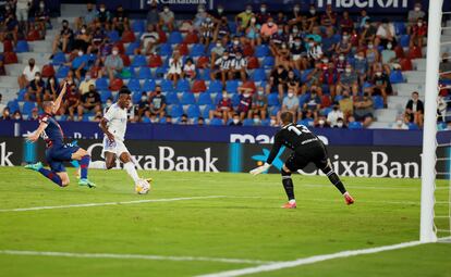
<svg viewBox="0 0 451 277">
<path fill-rule="evenodd" d="M 320 140 L 301 146 L 285 161 L 285 166 L 291 172 L 303 169 L 309 163 L 314 163 L 319 169 L 325 169 L 329 164 L 329 156 L 325 144 Z"/>
</svg>

